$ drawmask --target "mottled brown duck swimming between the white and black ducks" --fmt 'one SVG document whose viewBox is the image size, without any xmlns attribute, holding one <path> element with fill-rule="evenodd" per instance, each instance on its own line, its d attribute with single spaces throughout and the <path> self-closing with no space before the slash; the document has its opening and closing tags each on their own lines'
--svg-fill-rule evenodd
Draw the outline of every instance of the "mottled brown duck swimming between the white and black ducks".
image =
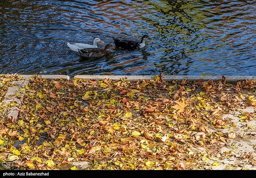
<svg viewBox="0 0 256 178">
<path fill-rule="evenodd" d="M 107 44 L 104 49 L 99 48 L 86 48 L 78 49 L 81 57 L 84 58 L 98 58 L 109 54 L 109 49 L 114 48 L 112 44 Z"/>
</svg>

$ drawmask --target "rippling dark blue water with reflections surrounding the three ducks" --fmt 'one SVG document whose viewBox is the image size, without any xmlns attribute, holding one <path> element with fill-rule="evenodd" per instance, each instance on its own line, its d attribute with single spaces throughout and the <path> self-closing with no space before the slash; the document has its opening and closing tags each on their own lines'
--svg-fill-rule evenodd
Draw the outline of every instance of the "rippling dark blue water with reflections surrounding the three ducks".
<svg viewBox="0 0 256 178">
<path fill-rule="evenodd" d="M 256 75 L 256 1 L 0 0 L 0 73 Z M 144 49 L 84 60 L 67 42 Z"/>
</svg>

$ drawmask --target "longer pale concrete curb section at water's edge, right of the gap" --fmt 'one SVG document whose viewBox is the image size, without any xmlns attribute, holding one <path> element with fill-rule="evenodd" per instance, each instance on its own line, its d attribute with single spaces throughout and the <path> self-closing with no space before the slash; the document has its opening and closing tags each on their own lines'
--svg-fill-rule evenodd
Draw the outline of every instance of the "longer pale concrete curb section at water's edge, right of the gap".
<svg viewBox="0 0 256 178">
<path fill-rule="evenodd" d="M 102 80 L 102 79 L 112 79 L 112 80 L 120 80 L 121 78 L 124 78 L 125 80 L 143 80 L 143 79 L 153 79 L 153 75 L 76 75 L 74 78 L 79 79 L 96 79 L 96 80 Z M 226 77 L 227 82 L 237 82 L 240 80 L 255 80 L 256 76 L 224 76 Z M 207 80 L 221 80 L 222 76 L 177 76 L 177 75 L 163 75 L 163 79 L 166 81 L 170 80 L 178 80 L 181 81 L 183 79 L 187 80 L 199 80 L 202 79 L 204 81 Z"/>
</svg>

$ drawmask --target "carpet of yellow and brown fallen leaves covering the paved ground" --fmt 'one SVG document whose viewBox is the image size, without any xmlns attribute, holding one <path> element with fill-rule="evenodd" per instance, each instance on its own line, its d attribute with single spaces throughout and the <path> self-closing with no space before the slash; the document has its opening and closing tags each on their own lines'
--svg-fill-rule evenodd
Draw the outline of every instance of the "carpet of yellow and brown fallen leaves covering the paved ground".
<svg viewBox="0 0 256 178">
<path fill-rule="evenodd" d="M 6 79 L 0 79 L 2 99 Z M 1 117 L 0 160 L 18 159 L 11 167 L 26 170 L 82 161 L 91 170 L 209 169 L 212 150 L 240 137 L 216 131 L 236 127 L 222 115 L 255 107 L 255 88 L 255 80 L 227 83 L 224 77 L 165 82 L 161 74 L 138 81 L 35 76 L 16 93 L 24 94 L 22 105 L 16 103 L 18 120 Z M 255 114 L 240 118 L 246 123 Z"/>
</svg>

